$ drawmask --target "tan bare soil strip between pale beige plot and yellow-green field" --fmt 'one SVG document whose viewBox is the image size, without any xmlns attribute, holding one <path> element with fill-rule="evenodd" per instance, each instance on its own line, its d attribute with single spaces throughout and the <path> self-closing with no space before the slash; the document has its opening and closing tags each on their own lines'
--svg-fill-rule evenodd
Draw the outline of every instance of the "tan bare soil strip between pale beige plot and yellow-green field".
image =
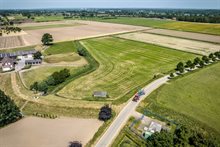
<svg viewBox="0 0 220 147">
<path fill-rule="evenodd" d="M 146 30 L 145 32 L 159 34 L 159 35 L 168 35 L 168 36 L 173 36 L 173 37 L 186 38 L 186 39 L 207 41 L 207 42 L 212 42 L 212 43 L 220 43 L 220 36 L 216 36 L 216 35 L 181 32 L 181 31 L 165 30 L 165 29 L 152 29 L 152 30 Z"/>
</svg>

